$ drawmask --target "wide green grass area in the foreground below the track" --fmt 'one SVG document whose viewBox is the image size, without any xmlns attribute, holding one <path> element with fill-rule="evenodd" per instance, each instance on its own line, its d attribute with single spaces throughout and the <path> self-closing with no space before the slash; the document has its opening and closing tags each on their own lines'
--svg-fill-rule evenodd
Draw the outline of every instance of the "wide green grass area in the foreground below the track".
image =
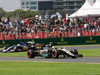
<svg viewBox="0 0 100 75">
<path fill-rule="evenodd" d="M 0 75 L 100 75 L 100 64 L 0 61 Z"/>
</svg>

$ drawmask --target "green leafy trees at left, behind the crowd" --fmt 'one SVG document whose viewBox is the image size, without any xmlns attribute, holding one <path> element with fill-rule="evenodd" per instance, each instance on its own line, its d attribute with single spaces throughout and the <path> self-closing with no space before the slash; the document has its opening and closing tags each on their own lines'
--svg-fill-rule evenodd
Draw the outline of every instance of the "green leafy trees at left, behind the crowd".
<svg viewBox="0 0 100 75">
<path fill-rule="evenodd" d="M 30 17 L 34 17 L 35 15 L 39 15 L 40 12 L 39 11 L 31 11 L 31 10 L 21 10 L 21 9 L 17 9 L 11 12 L 5 12 L 2 8 L 0 8 L 0 15 L 2 15 L 2 17 L 7 17 L 10 16 L 12 18 L 22 18 L 22 19 L 26 19 L 26 18 L 30 18 Z"/>
</svg>

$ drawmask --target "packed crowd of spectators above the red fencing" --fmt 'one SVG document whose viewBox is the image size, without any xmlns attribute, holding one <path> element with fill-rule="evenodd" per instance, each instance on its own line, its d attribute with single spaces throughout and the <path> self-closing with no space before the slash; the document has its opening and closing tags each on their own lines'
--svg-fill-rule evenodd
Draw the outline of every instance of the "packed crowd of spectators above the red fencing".
<svg viewBox="0 0 100 75">
<path fill-rule="evenodd" d="M 0 20 L 0 33 L 15 34 L 20 33 L 37 33 L 46 32 L 47 20 L 41 20 L 39 17 L 36 20 L 32 19 L 12 19 L 9 16 L 6 19 Z M 50 18 L 48 20 L 49 32 L 73 32 L 81 33 L 81 31 L 94 32 L 98 31 L 100 35 L 100 18 Z M 79 34 L 78 36 L 81 36 Z"/>
</svg>

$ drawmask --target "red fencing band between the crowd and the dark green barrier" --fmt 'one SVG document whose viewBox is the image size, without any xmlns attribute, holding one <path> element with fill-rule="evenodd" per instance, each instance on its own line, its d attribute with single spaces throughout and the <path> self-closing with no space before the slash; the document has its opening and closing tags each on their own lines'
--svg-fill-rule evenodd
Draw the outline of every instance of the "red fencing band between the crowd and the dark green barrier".
<svg viewBox="0 0 100 75">
<path fill-rule="evenodd" d="M 20 33 L 18 37 L 17 33 L 0 33 L 0 40 L 12 40 L 12 39 L 36 39 L 36 38 L 59 38 L 59 37 L 81 37 L 81 36 L 100 36 L 100 31 L 80 31 L 80 32 L 34 32 L 34 33 Z"/>
</svg>

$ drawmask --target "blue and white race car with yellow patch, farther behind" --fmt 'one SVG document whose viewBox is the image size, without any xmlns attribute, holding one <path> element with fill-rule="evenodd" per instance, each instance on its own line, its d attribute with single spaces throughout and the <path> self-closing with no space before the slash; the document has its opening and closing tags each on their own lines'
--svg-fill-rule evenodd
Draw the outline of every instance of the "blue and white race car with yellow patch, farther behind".
<svg viewBox="0 0 100 75">
<path fill-rule="evenodd" d="M 34 42 L 28 41 L 26 43 L 20 42 L 19 44 L 15 46 L 10 46 L 10 47 L 4 47 L 3 52 L 22 52 L 22 51 L 27 51 L 28 49 L 35 49 L 36 44 Z"/>
</svg>

